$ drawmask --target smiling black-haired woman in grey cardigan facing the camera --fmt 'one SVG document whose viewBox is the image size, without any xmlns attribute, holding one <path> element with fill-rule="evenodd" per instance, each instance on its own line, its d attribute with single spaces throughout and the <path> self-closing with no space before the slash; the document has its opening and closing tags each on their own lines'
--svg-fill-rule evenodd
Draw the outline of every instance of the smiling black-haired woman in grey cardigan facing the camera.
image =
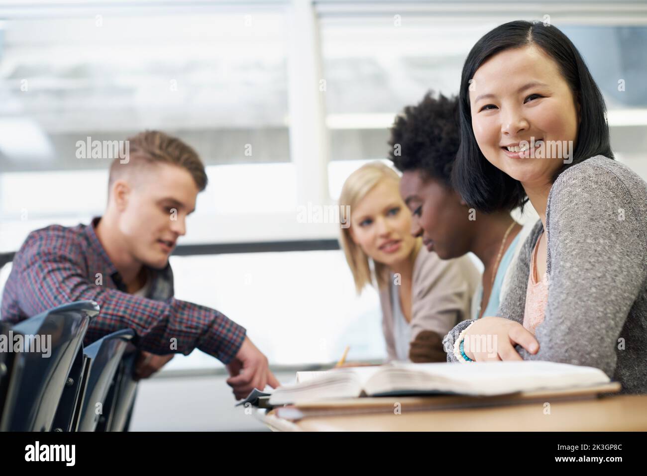
<svg viewBox="0 0 647 476">
<path fill-rule="evenodd" d="M 554 26 L 494 28 L 465 61 L 459 107 L 455 187 L 485 210 L 530 200 L 541 220 L 498 317 L 459 323 L 448 360 L 589 365 L 646 392 L 647 184 L 613 160 L 578 50 Z M 484 335 L 496 348 L 469 348 Z"/>
</svg>

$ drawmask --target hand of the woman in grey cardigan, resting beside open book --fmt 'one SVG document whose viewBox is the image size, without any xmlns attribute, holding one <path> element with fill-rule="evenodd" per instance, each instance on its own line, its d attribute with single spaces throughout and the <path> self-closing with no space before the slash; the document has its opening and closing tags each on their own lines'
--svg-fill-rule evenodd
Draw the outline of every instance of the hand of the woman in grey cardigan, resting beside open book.
<svg viewBox="0 0 647 476">
<path fill-rule="evenodd" d="M 531 354 L 539 351 L 539 342 L 520 323 L 505 318 L 478 319 L 465 332 L 463 350 L 476 362 L 496 360 L 523 360 L 515 345 L 521 345 Z"/>
</svg>

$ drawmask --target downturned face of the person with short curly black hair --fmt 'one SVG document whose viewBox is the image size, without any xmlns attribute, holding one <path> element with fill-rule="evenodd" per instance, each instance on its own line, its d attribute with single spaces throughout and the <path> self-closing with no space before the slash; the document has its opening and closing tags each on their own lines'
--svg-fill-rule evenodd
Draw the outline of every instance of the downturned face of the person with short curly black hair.
<svg viewBox="0 0 647 476">
<path fill-rule="evenodd" d="M 461 197 L 439 180 L 420 171 L 405 171 L 400 195 L 411 211 L 411 234 L 441 259 L 452 259 L 470 250 L 472 227 Z"/>
</svg>

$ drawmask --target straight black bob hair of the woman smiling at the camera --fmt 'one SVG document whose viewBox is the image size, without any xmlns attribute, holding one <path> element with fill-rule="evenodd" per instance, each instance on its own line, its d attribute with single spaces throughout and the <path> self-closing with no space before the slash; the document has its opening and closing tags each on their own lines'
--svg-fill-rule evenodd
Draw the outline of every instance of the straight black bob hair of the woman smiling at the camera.
<svg viewBox="0 0 647 476">
<path fill-rule="evenodd" d="M 573 92 L 575 104 L 580 107 L 573 162 L 558 169 L 553 182 L 565 169 L 587 158 L 604 155 L 613 159 L 604 98 L 571 40 L 553 25 L 540 22 L 520 20 L 500 25 L 476 42 L 463 65 L 459 92 L 461 144 L 452 171 L 454 188 L 470 206 L 485 213 L 512 210 L 518 206 L 523 208 L 528 197 L 518 180 L 490 164 L 479 149 L 472 129 L 470 80 L 476 70 L 495 54 L 529 45 L 539 47 L 556 61 Z"/>
</svg>

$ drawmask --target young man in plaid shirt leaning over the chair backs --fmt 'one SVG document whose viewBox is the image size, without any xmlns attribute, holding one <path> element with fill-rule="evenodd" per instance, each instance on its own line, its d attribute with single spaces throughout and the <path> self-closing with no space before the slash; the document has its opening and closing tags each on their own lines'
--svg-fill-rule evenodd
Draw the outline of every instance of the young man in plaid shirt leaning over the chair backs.
<svg viewBox="0 0 647 476">
<path fill-rule="evenodd" d="M 17 323 L 91 299 L 101 310 L 90 321 L 85 343 L 135 330 L 140 378 L 159 370 L 174 352 L 200 349 L 226 364 L 236 398 L 254 387 L 278 386 L 243 327 L 217 310 L 173 297 L 168 258 L 207 184 L 197 153 L 157 131 L 129 138 L 128 151 L 127 160 L 116 158 L 111 165 L 102 217 L 28 235 L 5 285 L 2 318 Z"/>
</svg>

